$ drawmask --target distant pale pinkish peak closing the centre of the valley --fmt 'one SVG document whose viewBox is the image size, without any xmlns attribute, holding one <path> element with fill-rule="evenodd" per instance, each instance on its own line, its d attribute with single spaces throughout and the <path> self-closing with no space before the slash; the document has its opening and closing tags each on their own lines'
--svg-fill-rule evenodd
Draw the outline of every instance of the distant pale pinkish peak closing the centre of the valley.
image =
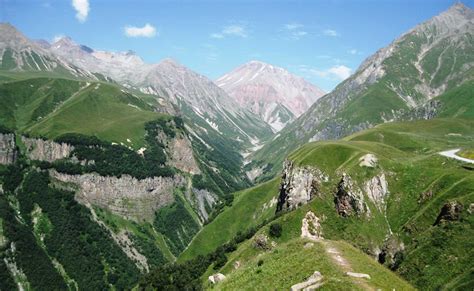
<svg viewBox="0 0 474 291">
<path fill-rule="evenodd" d="M 274 132 L 303 114 L 325 93 L 285 69 L 251 61 L 216 80 L 237 103 L 260 116 Z"/>
</svg>

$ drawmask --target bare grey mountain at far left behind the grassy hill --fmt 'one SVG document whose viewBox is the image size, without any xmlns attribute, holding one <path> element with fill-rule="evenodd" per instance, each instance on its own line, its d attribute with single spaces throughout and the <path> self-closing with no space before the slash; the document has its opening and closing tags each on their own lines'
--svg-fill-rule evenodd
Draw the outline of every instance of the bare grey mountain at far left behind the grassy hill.
<svg viewBox="0 0 474 291">
<path fill-rule="evenodd" d="M 15 27 L 0 23 L 0 68 L 10 72 L 48 72 L 98 80 L 99 76 L 58 58 L 44 43 L 29 40 Z"/>
</svg>

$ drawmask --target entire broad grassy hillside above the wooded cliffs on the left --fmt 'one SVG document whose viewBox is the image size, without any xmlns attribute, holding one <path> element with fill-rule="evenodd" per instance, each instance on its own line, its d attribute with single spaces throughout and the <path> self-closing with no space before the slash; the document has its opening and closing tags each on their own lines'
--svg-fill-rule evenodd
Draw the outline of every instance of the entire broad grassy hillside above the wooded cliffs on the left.
<svg viewBox="0 0 474 291">
<path fill-rule="evenodd" d="M 140 148 L 144 124 L 161 116 L 113 84 L 34 78 L 0 84 L 0 91 L 1 123 L 49 138 L 76 132 Z"/>
</svg>

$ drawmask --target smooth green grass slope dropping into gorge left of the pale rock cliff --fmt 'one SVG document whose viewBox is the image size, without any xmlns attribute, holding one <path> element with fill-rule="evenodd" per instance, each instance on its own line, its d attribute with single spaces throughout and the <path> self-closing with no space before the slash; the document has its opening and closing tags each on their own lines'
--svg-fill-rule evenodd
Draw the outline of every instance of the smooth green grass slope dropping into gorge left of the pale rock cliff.
<svg viewBox="0 0 474 291">
<path fill-rule="evenodd" d="M 280 181 L 274 179 L 259 186 L 235 193 L 231 207 L 225 208 L 211 223 L 207 224 L 192 240 L 179 260 L 207 254 L 232 239 L 237 232 L 257 226 L 271 218 L 275 205 L 264 209 L 263 205 L 277 196 Z"/>
</svg>

